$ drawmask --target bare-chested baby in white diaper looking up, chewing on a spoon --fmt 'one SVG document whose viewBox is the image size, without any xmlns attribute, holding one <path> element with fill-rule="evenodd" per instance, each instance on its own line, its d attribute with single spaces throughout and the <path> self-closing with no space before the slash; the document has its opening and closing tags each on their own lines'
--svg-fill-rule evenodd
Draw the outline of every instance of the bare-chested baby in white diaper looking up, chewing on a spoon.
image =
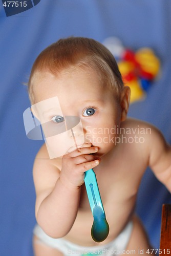
<svg viewBox="0 0 171 256">
<path fill-rule="evenodd" d="M 130 88 L 123 85 L 110 51 L 89 38 L 60 39 L 35 60 L 29 96 L 33 114 L 50 125 L 33 167 L 35 255 L 149 254 L 151 246 L 134 212 L 137 192 L 148 165 L 171 191 L 171 147 L 151 124 L 126 118 Z M 34 106 L 47 100 L 58 108 L 50 105 L 40 117 Z M 62 144 L 54 131 L 67 117 L 81 122 L 67 134 L 77 146 L 62 140 L 66 151 L 55 157 Z M 56 130 L 46 136 L 52 126 Z M 90 168 L 110 227 L 100 243 L 91 237 L 93 216 L 84 186 L 84 172 Z"/>
</svg>

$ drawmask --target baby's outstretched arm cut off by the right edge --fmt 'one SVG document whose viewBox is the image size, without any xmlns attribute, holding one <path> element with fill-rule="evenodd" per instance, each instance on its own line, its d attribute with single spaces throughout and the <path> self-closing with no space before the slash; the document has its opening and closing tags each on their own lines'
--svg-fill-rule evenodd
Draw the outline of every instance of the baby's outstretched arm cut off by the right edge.
<svg viewBox="0 0 171 256">
<path fill-rule="evenodd" d="M 156 177 L 171 193 L 171 146 L 155 127 L 152 126 L 151 129 L 146 148 L 149 152 L 148 163 Z"/>
</svg>

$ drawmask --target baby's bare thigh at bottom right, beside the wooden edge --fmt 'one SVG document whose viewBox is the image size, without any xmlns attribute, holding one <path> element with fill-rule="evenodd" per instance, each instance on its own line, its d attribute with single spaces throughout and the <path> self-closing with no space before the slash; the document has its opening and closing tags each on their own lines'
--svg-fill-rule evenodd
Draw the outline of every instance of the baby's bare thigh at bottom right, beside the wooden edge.
<svg viewBox="0 0 171 256">
<path fill-rule="evenodd" d="M 129 244 L 127 245 L 126 250 L 128 253 L 134 255 L 148 255 L 151 252 L 152 246 L 148 242 L 147 234 L 144 230 L 144 227 L 138 217 L 133 218 L 133 231 Z M 148 250 L 149 249 L 149 250 Z M 148 251 L 147 251 L 148 250 Z M 150 253 L 151 254 L 151 253 Z M 154 255 L 154 254 L 151 254 Z"/>
</svg>

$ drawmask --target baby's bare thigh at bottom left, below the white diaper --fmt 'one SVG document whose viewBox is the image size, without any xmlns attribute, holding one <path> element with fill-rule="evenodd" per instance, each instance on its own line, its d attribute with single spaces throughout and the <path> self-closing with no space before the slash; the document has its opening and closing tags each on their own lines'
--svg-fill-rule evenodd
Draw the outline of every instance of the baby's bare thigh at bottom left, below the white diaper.
<svg viewBox="0 0 171 256">
<path fill-rule="evenodd" d="M 36 236 L 33 237 L 34 256 L 63 256 L 63 253 L 41 242 Z"/>
</svg>

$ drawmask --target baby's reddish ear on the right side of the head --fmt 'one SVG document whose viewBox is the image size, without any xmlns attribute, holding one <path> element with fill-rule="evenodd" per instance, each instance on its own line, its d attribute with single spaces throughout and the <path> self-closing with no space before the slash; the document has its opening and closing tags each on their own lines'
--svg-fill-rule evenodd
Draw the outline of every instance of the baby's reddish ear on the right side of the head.
<svg viewBox="0 0 171 256">
<path fill-rule="evenodd" d="M 130 105 L 130 95 L 131 95 L 131 89 L 128 86 L 124 86 L 123 91 L 121 93 L 121 121 L 124 121 L 127 116 L 127 112 L 129 110 Z"/>
</svg>

